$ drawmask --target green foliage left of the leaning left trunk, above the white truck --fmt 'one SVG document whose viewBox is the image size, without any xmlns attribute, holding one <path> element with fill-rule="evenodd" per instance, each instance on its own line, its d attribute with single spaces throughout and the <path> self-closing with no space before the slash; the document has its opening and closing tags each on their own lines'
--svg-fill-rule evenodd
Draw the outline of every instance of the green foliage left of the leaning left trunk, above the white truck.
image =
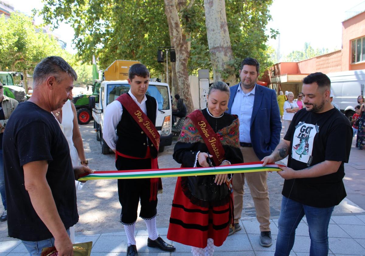
<svg viewBox="0 0 365 256">
<path fill-rule="evenodd" d="M 65 20 L 75 31 L 78 56 L 107 68 L 116 59 L 139 60 L 152 72 L 164 72 L 157 63 L 157 48 L 170 46 L 164 1 L 45 0 L 48 23 Z"/>
</svg>

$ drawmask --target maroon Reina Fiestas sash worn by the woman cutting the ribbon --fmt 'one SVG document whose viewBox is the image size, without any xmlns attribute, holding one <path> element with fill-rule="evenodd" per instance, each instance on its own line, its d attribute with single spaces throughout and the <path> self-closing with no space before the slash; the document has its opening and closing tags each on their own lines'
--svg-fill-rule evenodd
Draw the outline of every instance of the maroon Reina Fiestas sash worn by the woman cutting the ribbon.
<svg viewBox="0 0 365 256">
<path fill-rule="evenodd" d="M 205 119 L 201 110 L 195 110 L 187 117 L 190 118 L 195 128 L 199 131 L 201 138 L 203 138 L 205 145 L 208 147 L 209 154 L 213 156 L 215 165 L 219 166 L 225 159 L 224 149 L 213 128 Z"/>
</svg>

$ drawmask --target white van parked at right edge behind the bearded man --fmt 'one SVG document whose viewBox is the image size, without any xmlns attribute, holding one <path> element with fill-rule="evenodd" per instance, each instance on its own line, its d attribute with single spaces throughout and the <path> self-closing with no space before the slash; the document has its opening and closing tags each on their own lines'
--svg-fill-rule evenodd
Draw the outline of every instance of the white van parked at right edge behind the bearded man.
<svg viewBox="0 0 365 256">
<path fill-rule="evenodd" d="M 334 72 L 327 76 L 331 80 L 333 102 L 351 121 L 355 113 L 355 106 L 358 105 L 357 97 L 364 95 L 365 69 Z"/>
</svg>

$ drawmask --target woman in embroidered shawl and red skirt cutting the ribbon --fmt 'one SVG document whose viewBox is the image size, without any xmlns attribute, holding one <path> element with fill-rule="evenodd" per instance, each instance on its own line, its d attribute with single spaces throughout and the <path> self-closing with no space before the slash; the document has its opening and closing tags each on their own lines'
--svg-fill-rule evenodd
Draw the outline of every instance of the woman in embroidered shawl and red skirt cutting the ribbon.
<svg viewBox="0 0 365 256">
<path fill-rule="evenodd" d="M 238 117 L 224 113 L 229 95 L 226 83 L 215 82 L 208 91 L 208 107 L 187 116 L 173 154 L 183 167 L 243 162 Z M 213 255 L 214 245 L 223 244 L 233 223 L 231 178 L 231 174 L 178 177 L 167 238 L 191 245 L 194 256 Z"/>
</svg>

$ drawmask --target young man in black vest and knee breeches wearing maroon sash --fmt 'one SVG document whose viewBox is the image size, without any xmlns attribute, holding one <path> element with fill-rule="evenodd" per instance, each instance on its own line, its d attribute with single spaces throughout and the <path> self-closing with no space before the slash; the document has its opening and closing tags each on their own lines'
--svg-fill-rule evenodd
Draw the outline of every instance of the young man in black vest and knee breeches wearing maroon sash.
<svg viewBox="0 0 365 256">
<path fill-rule="evenodd" d="M 160 135 L 155 127 L 158 106 L 156 99 L 146 94 L 149 77 L 150 73 L 144 65 L 132 65 L 128 73 L 130 90 L 105 109 L 103 139 L 115 152 L 118 170 L 158 168 Z M 118 180 L 119 202 L 122 205 L 120 222 L 127 235 L 127 255 L 138 255 L 134 230 L 139 200 L 139 217 L 145 220 L 148 230 L 147 246 L 163 251 L 175 250 L 157 233 L 158 191 L 162 191 L 161 178 Z"/>
</svg>

